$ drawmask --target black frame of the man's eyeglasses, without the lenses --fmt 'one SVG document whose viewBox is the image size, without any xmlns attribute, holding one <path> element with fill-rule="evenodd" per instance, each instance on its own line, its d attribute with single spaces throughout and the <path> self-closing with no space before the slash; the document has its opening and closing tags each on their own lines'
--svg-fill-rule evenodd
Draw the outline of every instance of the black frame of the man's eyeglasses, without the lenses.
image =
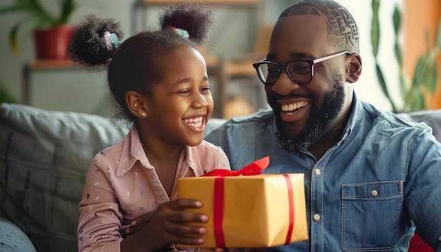
<svg viewBox="0 0 441 252">
<path fill-rule="evenodd" d="M 266 86 L 272 87 L 272 86 L 275 85 L 275 83 L 277 83 L 277 81 L 278 81 L 279 78 L 280 78 L 280 75 L 282 74 L 282 68 L 285 68 L 285 71 L 286 71 L 288 77 L 290 77 L 290 80 L 291 80 L 292 82 L 295 82 L 295 83 L 297 83 L 297 84 L 304 85 L 304 84 L 308 84 L 309 82 L 311 82 L 311 80 L 312 80 L 312 78 L 313 78 L 313 76 L 314 76 L 314 65 L 316 65 L 316 63 L 319 63 L 319 62 L 322 62 L 322 61 L 326 61 L 326 60 L 328 60 L 328 59 L 330 59 L 330 58 L 335 58 L 335 57 L 337 57 L 337 56 L 341 56 L 341 55 L 343 55 L 343 54 L 351 54 L 351 53 L 350 53 L 349 51 L 340 51 L 340 53 L 333 53 L 333 54 L 331 54 L 331 55 L 324 56 L 324 57 L 321 57 L 321 58 L 316 58 L 316 59 L 313 59 L 313 60 L 297 60 L 297 59 L 296 59 L 296 60 L 288 61 L 288 62 L 286 62 L 286 63 L 282 63 L 282 64 L 275 63 L 275 62 L 273 62 L 273 61 L 266 61 L 266 59 L 263 59 L 263 60 L 261 60 L 261 61 L 259 61 L 259 62 L 254 63 L 254 64 L 253 64 L 253 68 L 256 69 L 257 76 L 259 77 L 259 80 L 261 80 L 261 82 L 262 82 L 263 84 L 265 84 Z M 306 62 L 306 63 L 308 63 L 309 66 L 311 67 L 311 75 L 310 75 L 309 80 L 308 80 L 307 82 L 298 82 L 297 80 L 294 80 L 294 78 L 293 78 L 292 75 L 290 74 L 290 71 L 288 70 L 288 65 L 289 65 L 290 63 L 292 63 L 292 62 L 299 62 L 299 61 Z M 271 65 L 275 65 L 275 67 L 278 68 L 278 77 L 275 79 L 275 81 L 274 81 L 273 84 L 268 84 L 268 83 L 266 83 L 265 80 L 263 80 L 263 77 L 262 77 L 262 76 L 263 76 L 263 73 L 261 73 L 261 71 L 259 71 L 259 66 L 260 66 L 260 65 L 263 65 L 263 64 L 271 64 Z"/>
</svg>

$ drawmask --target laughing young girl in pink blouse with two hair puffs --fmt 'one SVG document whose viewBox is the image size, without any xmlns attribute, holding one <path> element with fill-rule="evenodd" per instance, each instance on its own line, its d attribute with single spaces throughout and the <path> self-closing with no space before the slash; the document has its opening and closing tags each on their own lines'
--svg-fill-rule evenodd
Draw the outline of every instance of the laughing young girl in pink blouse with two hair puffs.
<svg viewBox="0 0 441 252">
<path fill-rule="evenodd" d="M 118 23 L 89 15 L 70 41 L 73 61 L 108 68 L 111 93 L 133 121 L 124 139 L 92 160 L 80 202 L 79 251 L 203 243 L 206 228 L 190 222 L 208 217 L 186 211 L 201 202 L 176 199 L 177 180 L 230 169 L 225 153 L 203 141 L 213 99 L 197 46 L 208 37 L 212 13 L 193 4 L 172 6 L 160 22 L 161 31 L 120 43 Z"/>
</svg>

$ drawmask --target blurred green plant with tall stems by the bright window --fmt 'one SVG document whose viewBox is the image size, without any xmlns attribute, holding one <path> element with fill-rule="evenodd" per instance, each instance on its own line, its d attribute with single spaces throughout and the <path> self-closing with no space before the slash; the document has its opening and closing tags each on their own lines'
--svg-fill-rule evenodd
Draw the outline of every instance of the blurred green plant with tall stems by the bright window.
<svg viewBox="0 0 441 252">
<path fill-rule="evenodd" d="M 430 34 L 426 32 L 426 51 L 418 56 L 414 73 L 411 77 L 406 77 L 403 71 L 402 52 L 398 43 L 399 30 L 401 25 L 401 12 L 395 6 L 392 17 L 395 31 L 394 53 L 399 67 L 399 92 L 402 98 L 403 106 L 397 106 L 396 101 L 392 99 L 390 94 L 390 86 L 386 83 L 385 75 L 378 61 L 378 47 L 380 44 L 380 22 L 378 11 L 380 7 L 379 0 L 372 0 L 372 23 L 371 23 L 371 44 L 373 56 L 375 58 L 375 71 L 377 73 L 378 82 L 385 94 L 386 98 L 392 106 L 395 113 L 421 111 L 426 109 L 426 94 L 433 94 L 437 84 L 437 56 L 441 53 L 441 18 L 438 24 L 437 34 L 435 34 L 435 44 L 430 46 Z"/>
</svg>

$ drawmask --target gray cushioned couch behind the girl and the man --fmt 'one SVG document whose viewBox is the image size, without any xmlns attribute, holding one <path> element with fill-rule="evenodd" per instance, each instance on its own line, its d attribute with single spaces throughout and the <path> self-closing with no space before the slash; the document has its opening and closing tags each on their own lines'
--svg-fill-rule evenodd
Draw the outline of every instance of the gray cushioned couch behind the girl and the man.
<svg viewBox="0 0 441 252">
<path fill-rule="evenodd" d="M 428 123 L 441 141 L 441 110 L 400 116 Z M 222 122 L 211 118 L 206 132 Z M 20 227 L 37 251 L 77 251 L 78 202 L 89 162 L 128 130 L 98 115 L 2 103 L 0 217 Z"/>
</svg>

